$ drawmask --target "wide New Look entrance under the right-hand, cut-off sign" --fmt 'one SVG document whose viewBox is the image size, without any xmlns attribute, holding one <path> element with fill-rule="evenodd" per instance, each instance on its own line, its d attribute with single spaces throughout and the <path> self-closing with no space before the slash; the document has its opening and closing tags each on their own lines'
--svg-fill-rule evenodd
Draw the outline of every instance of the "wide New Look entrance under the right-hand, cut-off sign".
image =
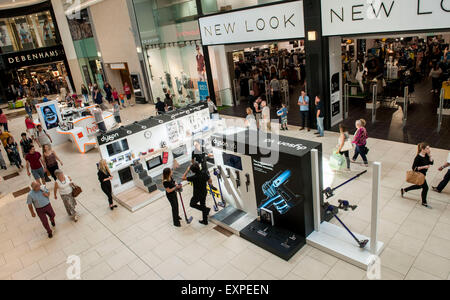
<svg viewBox="0 0 450 300">
<path fill-rule="evenodd" d="M 450 100 L 440 97 L 450 80 L 449 43 L 450 33 L 343 38 L 346 127 L 363 118 L 371 137 L 449 149 Z"/>
</svg>

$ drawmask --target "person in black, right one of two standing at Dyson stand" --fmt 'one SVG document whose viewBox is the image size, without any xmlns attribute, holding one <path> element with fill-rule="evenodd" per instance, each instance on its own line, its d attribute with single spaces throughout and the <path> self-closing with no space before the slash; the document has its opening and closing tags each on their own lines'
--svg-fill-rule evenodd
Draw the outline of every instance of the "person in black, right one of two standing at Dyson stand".
<svg viewBox="0 0 450 300">
<path fill-rule="evenodd" d="M 193 176 L 187 177 L 187 174 L 191 171 L 194 173 Z M 192 164 L 187 168 L 186 172 L 183 174 L 183 180 L 187 180 L 194 186 L 194 193 L 190 202 L 190 206 L 202 212 L 203 219 L 199 221 L 200 224 L 208 225 L 208 215 L 211 208 L 206 207 L 206 184 L 212 184 L 212 180 L 209 177 L 208 172 L 201 171 L 198 163 Z"/>
</svg>

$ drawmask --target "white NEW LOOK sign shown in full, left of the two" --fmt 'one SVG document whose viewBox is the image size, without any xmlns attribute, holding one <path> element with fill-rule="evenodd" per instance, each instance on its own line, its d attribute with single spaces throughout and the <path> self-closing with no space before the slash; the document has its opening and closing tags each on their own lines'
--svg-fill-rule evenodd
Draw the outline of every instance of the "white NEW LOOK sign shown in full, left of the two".
<svg viewBox="0 0 450 300">
<path fill-rule="evenodd" d="M 203 45 L 305 37 L 303 2 L 263 6 L 199 19 Z"/>
</svg>

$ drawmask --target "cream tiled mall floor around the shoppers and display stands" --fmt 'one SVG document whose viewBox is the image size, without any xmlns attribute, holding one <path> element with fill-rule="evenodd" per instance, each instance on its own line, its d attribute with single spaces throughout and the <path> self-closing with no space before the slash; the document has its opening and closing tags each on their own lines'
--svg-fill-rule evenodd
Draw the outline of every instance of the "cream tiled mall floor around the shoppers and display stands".
<svg viewBox="0 0 450 300">
<path fill-rule="evenodd" d="M 135 106 L 122 112 L 132 122 L 153 114 L 152 107 Z M 18 138 L 23 119 L 10 122 Z M 291 127 L 287 135 L 318 140 L 312 132 Z M 329 157 L 337 139 L 327 132 L 320 139 L 324 159 Z M 430 191 L 432 210 L 420 205 L 419 193 L 400 197 L 405 171 L 410 168 L 415 146 L 370 139 L 369 159 L 382 163 L 380 239 L 386 243 L 381 255 L 382 279 L 450 279 L 450 187 L 444 193 Z M 168 201 L 161 199 L 136 213 L 119 207 L 111 212 L 102 193 L 95 162 L 97 150 L 86 155 L 75 153 L 70 143 L 55 147 L 64 162 L 63 170 L 84 192 L 78 199 L 81 215 L 73 223 L 61 200 L 52 199 L 57 227 L 49 240 L 38 219 L 33 219 L 25 204 L 26 195 L 11 194 L 29 185 L 24 171 L 19 177 L 0 182 L 0 279 L 65 279 L 67 257 L 79 255 L 82 279 L 365 279 L 366 274 L 342 260 L 305 246 L 289 262 L 237 237 L 227 237 L 197 223 L 200 214 L 188 210 L 196 219 L 190 225 L 171 225 Z M 438 165 L 448 150 L 433 149 Z M 4 153 L 3 153 L 4 154 Z M 324 163 L 325 186 L 335 186 L 362 170 L 352 165 L 351 173 L 334 174 Z M 5 176 L 15 172 L 10 167 Z M 353 212 L 342 212 L 343 220 L 359 233 L 369 234 L 371 174 L 337 191 L 332 202 L 346 199 L 358 204 Z M 437 168 L 427 179 L 436 185 L 444 176 Z M 184 190 L 185 201 L 191 193 Z M 208 201 L 212 199 L 208 198 Z M 211 204 L 211 203 L 210 203 Z"/>
</svg>

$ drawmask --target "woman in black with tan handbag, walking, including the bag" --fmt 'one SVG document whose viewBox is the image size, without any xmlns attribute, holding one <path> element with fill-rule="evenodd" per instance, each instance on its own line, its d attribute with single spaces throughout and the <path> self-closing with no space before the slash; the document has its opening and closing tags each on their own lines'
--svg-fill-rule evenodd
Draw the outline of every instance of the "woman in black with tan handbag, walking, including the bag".
<svg viewBox="0 0 450 300">
<path fill-rule="evenodd" d="M 422 189 L 422 205 L 431 208 L 427 204 L 427 194 L 428 194 L 428 184 L 425 179 L 428 169 L 434 164 L 433 158 L 431 158 L 431 148 L 427 143 L 420 143 L 417 145 L 417 156 L 414 159 L 412 165 L 413 172 L 407 174 L 407 181 L 413 183 L 414 185 L 407 187 L 406 189 L 401 189 L 402 197 L 405 193 L 412 190 Z M 421 173 L 421 174 L 417 174 Z M 422 183 L 423 182 L 423 183 Z"/>
</svg>

